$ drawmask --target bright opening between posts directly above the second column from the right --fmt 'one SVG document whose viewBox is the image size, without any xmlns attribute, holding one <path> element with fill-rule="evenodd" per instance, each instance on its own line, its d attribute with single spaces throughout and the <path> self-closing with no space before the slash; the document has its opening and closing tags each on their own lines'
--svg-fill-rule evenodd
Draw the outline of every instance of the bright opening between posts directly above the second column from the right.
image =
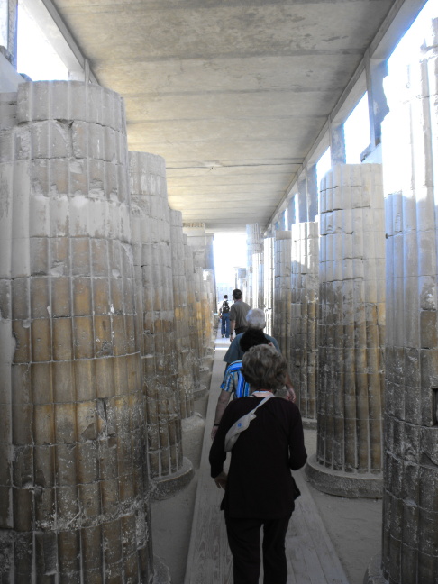
<svg viewBox="0 0 438 584">
<path fill-rule="evenodd" d="M 347 164 L 360 164 L 360 154 L 370 145 L 370 116 L 368 112 L 368 93 L 343 124 L 345 136 L 345 161 Z"/>
</svg>

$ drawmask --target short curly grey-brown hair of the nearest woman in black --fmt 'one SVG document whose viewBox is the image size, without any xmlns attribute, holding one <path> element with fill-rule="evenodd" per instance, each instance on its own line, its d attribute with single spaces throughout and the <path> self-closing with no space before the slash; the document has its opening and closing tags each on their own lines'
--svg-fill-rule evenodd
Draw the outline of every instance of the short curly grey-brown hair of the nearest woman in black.
<svg viewBox="0 0 438 584">
<path fill-rule="evenodd" d="M 270 389 L 275 393 L 285 385 L 286 373 L 286 359 L 274 347 L 257 345 L 243 355 L 242 375 L 253 391 Z"/>
</svg>

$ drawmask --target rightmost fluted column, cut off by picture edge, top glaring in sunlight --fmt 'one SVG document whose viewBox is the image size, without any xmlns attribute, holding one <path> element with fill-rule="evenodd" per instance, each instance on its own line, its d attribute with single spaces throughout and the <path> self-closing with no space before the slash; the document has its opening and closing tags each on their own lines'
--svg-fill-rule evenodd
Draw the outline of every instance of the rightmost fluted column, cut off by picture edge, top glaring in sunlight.
<svg viewBox="0 0 438 584">
<path fill-rule="evenodd" d="M 391 584 L 434 584 L 438 574 L 438 19 L 433 28 L 406 77 L 392 86 L 389 76 L 390 114 L 382 123 L 388 238 L 382 565 Z"/>
</svg>

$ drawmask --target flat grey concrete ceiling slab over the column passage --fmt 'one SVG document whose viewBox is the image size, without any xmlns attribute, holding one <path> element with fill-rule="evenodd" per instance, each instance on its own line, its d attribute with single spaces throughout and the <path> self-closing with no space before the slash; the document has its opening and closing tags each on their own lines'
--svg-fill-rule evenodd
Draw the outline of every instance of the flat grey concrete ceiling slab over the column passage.
<svg viewBox="0 0 438 584">
<path fill-rule="evenodd" d="M 265 226 L 395 0 L 54 0 L 132 151 L 207 231 Z"/>
</svg>

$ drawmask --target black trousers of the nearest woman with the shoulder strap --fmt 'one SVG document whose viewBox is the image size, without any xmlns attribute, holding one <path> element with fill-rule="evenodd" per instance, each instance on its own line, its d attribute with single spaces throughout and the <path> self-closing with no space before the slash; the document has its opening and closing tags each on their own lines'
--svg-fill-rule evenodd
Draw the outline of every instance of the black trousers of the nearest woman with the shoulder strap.
<svg viewBox="0 0 438 584">
<path fill-rule="evenodd" d="M 234 519 L 225 516 L 233 553 L 234 584 L 259 584 L 260 527 L 263 526 L 263 584 L 286 584 L 285 538 L 292 514 L 280 519 Z"/>
</svg>

